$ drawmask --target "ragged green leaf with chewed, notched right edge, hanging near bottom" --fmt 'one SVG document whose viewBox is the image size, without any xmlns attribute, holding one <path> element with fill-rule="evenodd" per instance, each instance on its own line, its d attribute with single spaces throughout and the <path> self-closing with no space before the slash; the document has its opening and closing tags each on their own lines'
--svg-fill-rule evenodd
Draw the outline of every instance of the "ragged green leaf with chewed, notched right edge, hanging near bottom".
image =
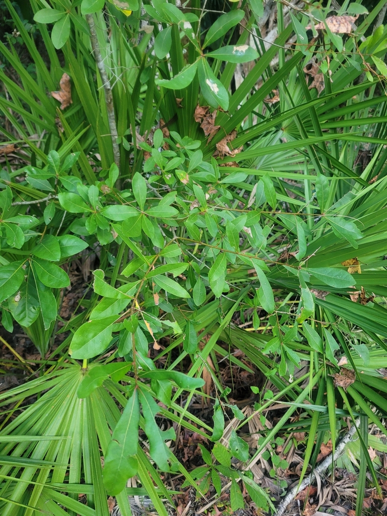
<svg viewBox="0 0 387 516">
<path fill-rule="evenodd" d="M 168 458 L 170 451 L 164 441 L 165 439 L 174 439 L 174 430 L 170 428 L 168 431 L 162 432 L 157 426 L 154 416 L 159 412 L 160 407 L 149 392 L 141 390 L 139 396 L 145 420 L 144 430 L 149 440 L 150 456 L 162 471 L 169 471 Z"/>
</svg>

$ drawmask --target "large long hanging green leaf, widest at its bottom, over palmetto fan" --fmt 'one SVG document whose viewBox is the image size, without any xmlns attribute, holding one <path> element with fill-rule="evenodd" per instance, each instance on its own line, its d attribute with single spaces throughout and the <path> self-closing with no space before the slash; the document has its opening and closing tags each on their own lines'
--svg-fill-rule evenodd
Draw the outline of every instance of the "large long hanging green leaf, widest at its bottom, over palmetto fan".
<svg viewBox="0 0 387 516">
<path fill-rule="evenodd" d="M 127 400 L 113 431 L 104 461 L 103 481 L 109 494 L 115 496 L 126 487 L 127 479 L 137 473 L 135 455 L 138 446 L 140 404 L 138 391 Z"/>
</svg>

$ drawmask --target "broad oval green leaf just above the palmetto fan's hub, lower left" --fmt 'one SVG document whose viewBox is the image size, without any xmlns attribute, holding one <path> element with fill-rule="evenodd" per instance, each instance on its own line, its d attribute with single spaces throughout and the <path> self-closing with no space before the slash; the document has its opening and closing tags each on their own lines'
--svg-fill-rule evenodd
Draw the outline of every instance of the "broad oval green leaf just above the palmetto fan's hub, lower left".
<svg viewBox="0 0 387 516">
<path fill-rule="evenodd" d="M 69 353 L 72 358 L 93 358 L 103 353 L 110 344 L 116 320 L 117 315 L 111 315 L 104 319 L 89 320 L 78 328 L 71 341 Z"/>
</svg>

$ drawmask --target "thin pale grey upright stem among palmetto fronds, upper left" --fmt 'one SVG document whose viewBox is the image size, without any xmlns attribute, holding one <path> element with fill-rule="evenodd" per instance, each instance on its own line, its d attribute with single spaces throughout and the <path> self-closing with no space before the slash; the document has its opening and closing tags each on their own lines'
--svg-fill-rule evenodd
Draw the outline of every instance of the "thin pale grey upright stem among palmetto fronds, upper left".
<svg viewBox="0 0 387 516">
<path fill-rule="evenodd" d="M 90 41 L 91 47 L 93 49 L 94 59 L 96 62 L 96 66 L 100 71 L 102 84 L 105 92 L 105 102 L 106 102 L 106 110 L 107 110 L 107 118 L 109 121 L 110 135 L 111 135 L 111 143 L 113 146 L 113 154 L 114 154 L 114 162 L 117 167 L 120 167 L 120 149 L 117 143 L 118 133 L 117 133 L 117 124 L 116 124 L 116 115 L 114 112 L 114 103 L 113 103 L 113 95 L 111 92 L 110 81 L 107 76 L 105 65 L 101 55 L 100 45 L 98 43 L 98 38 L 96 36 L 95 23 L 92 14 L 86 14 L 86 20 L 90 27 Z"/>
</svg>

